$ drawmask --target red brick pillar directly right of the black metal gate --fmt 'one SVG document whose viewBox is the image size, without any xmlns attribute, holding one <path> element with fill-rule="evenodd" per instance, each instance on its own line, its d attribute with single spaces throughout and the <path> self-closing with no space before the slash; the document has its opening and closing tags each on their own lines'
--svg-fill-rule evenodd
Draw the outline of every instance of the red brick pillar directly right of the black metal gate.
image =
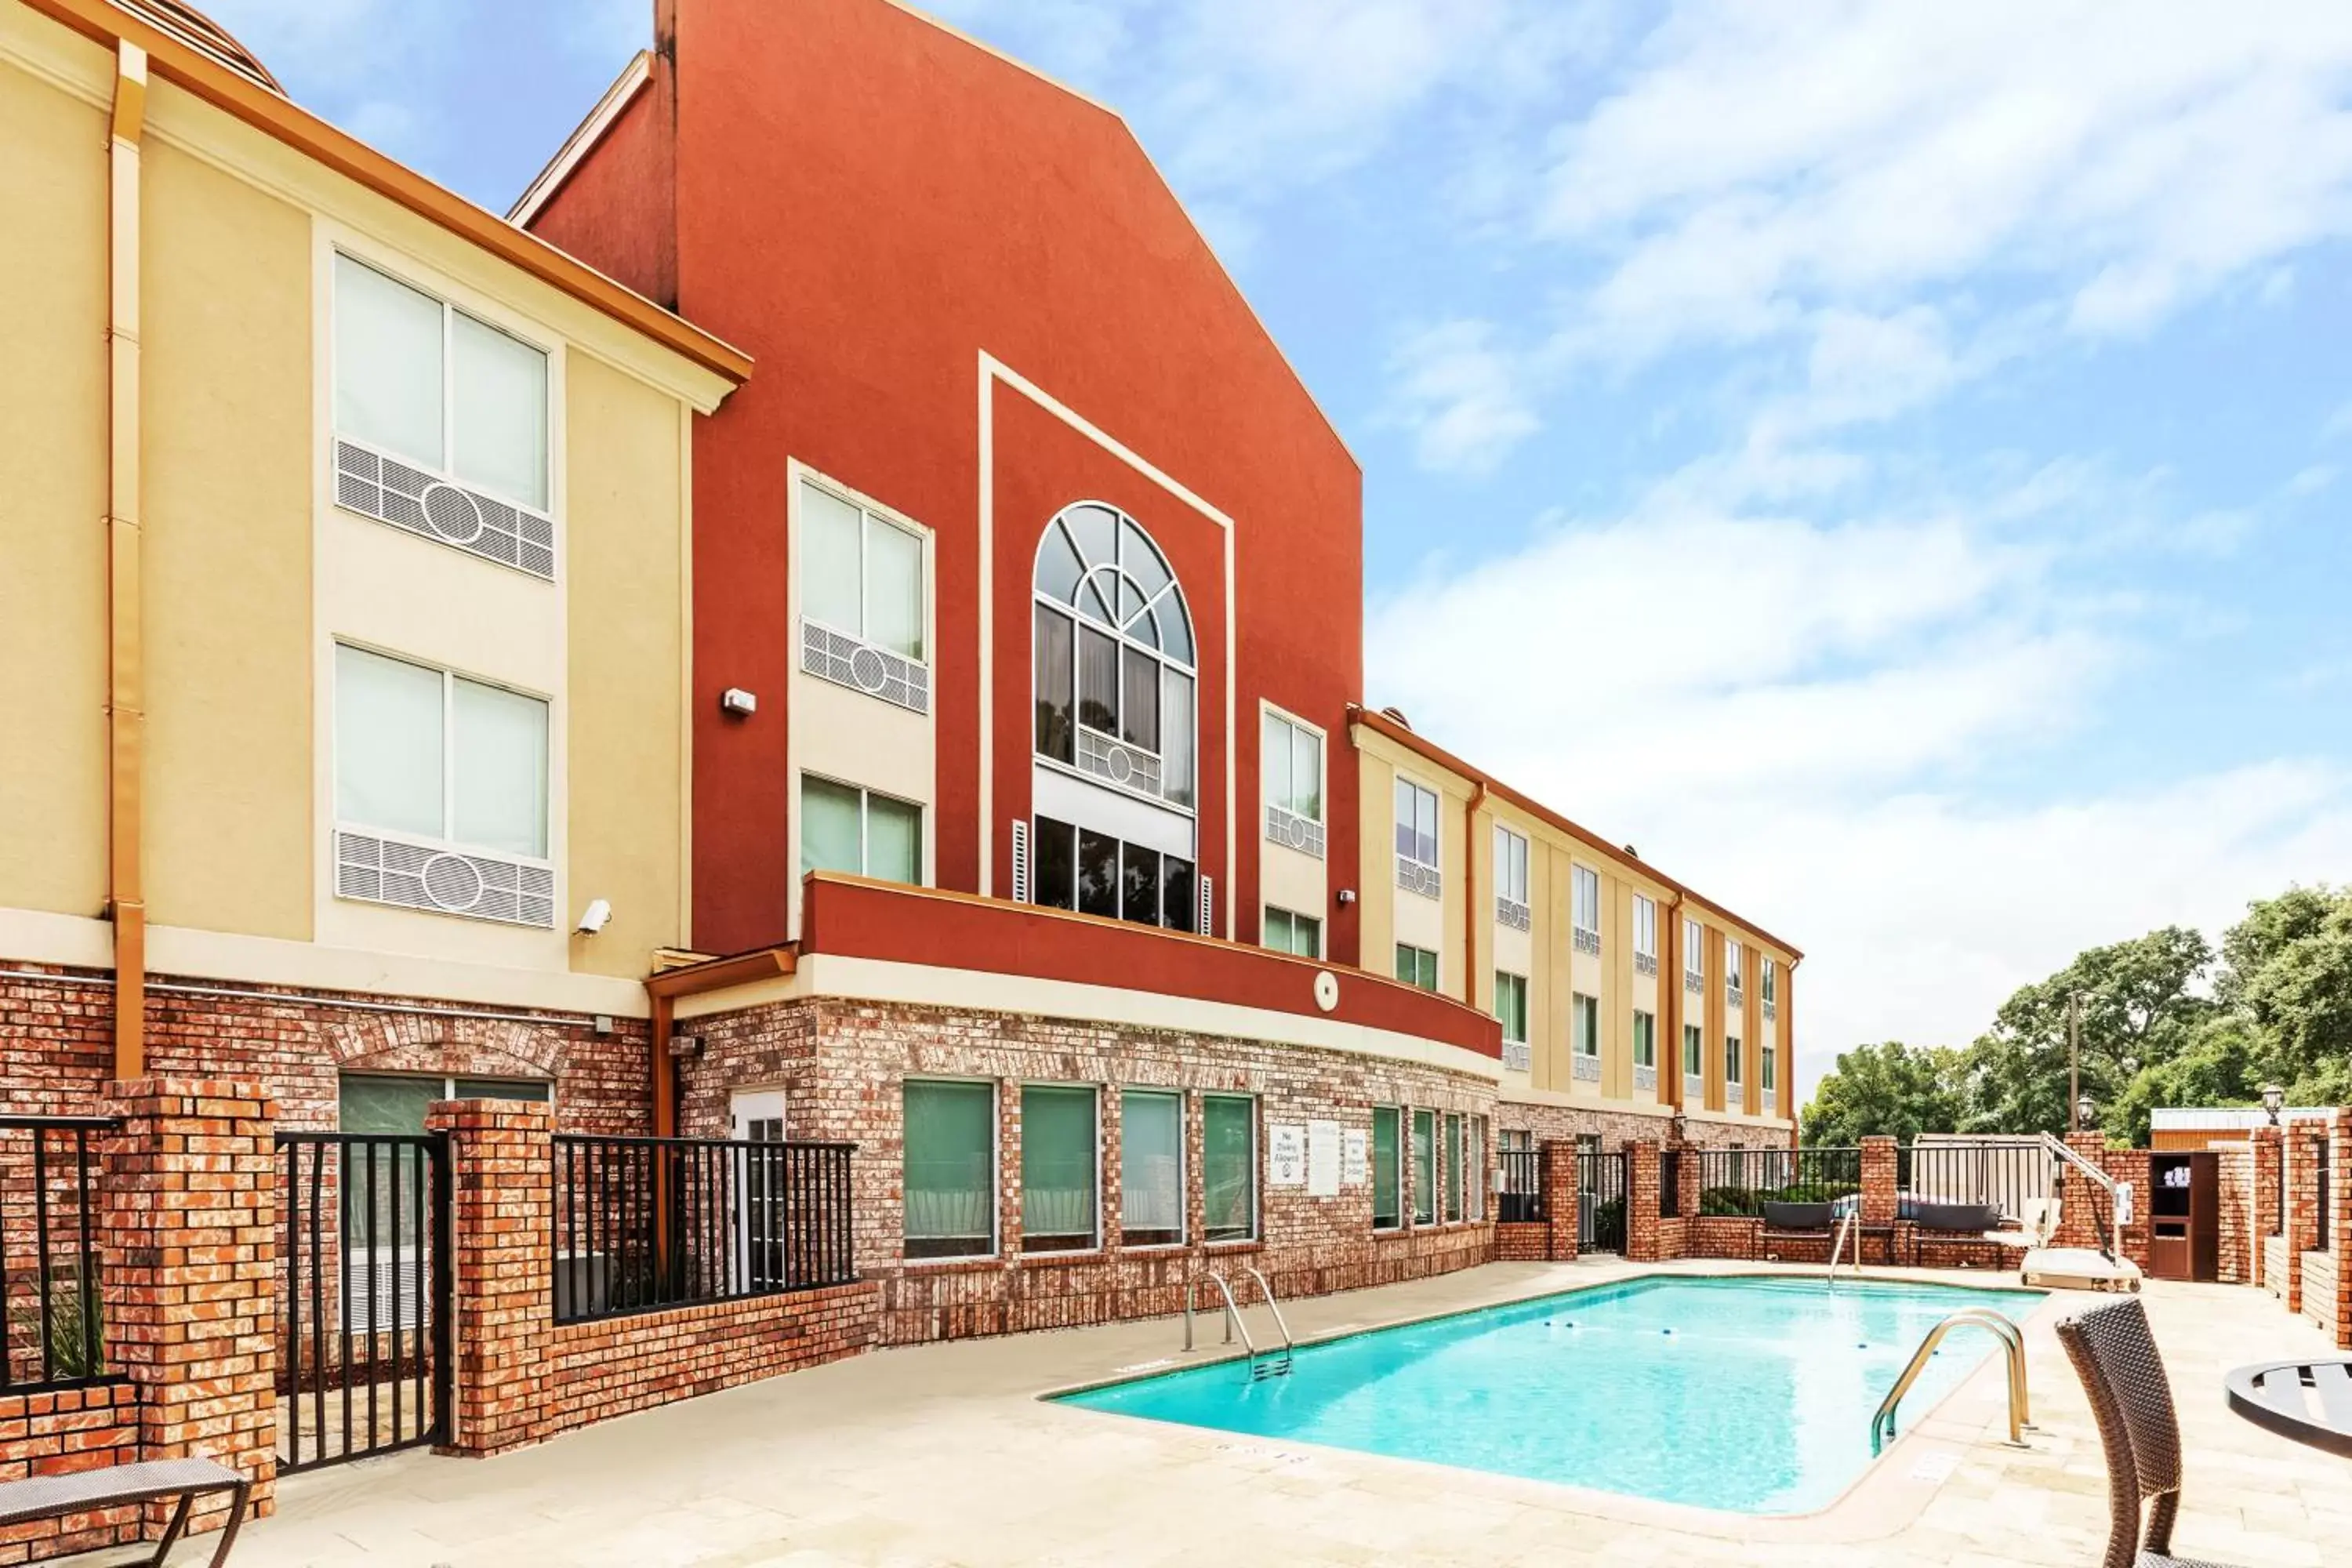
<svg viewBox="0 0 2352 1568">
<path fill-rule="evenodd" d="M 555 1328 L 555 1124 L 524 1100 L 445 1100 L 449 1133 L 449 1338 L 456 1368 L 442 1453 L 539 1441 L 541 1356 Z"/>
</svg>

